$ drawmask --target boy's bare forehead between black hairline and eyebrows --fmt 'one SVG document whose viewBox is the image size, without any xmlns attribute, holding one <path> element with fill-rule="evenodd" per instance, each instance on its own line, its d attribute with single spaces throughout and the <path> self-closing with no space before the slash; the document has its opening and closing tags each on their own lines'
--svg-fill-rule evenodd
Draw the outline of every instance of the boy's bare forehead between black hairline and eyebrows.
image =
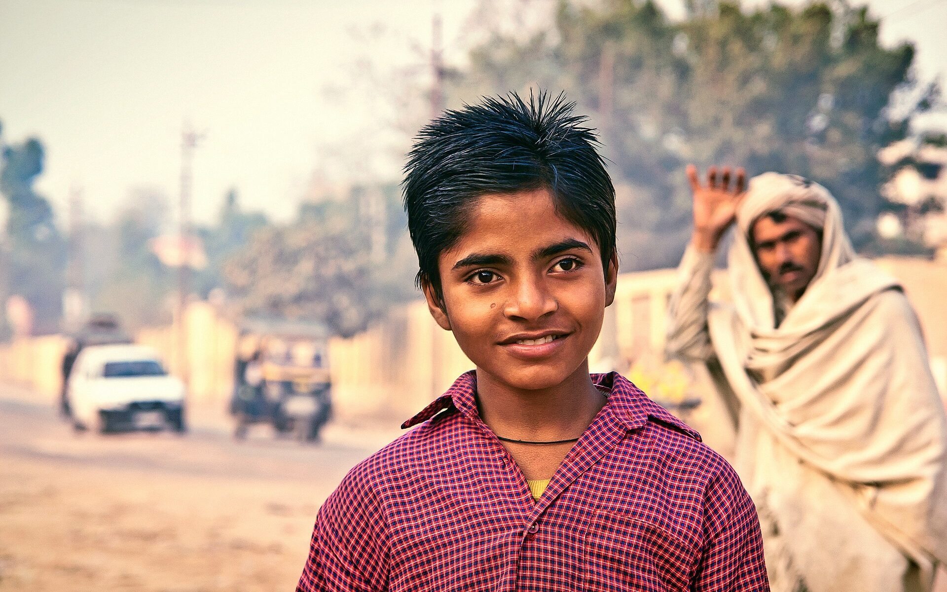
<svg viewBox="0 0 947 592">
<path fill-rule="evenodd" d="M 586 243 L 598 252 L 598 244 L 586 230 L 556 211 L 548 189 L 487 194 L 477 198 L 463 234 L 441 257 L 460 259 L 471 252 L 532 253 L 536 248 L 569 239 Z"/>
</svg>

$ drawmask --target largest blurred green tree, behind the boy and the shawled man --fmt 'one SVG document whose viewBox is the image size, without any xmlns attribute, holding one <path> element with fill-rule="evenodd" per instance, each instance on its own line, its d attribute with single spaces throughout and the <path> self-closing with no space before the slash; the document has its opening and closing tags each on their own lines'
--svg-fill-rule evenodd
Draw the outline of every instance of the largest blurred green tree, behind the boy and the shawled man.
<svg viewBox="0 0 947 592">
<path fill-rule="evenodd" d="M 864 8 L 722 3 L 714 16 L 674 23 L 650 0 L 563 1 L 550 30 L 526 41 L 498 33 L 476 47 L 451 102 L 542 87 L 592 114 L 612 161 L 626 270 L 679 260 L 688 162 L 811 177 L 839 199 L 858 246 L 884 208 L 891 170 L 877 152 L 938 99 L 936 86 L 911 78 L 913 46 L 886 49 L 878 31 Z M 892 96 L 905 90 L 915 99 L 895 113 Z"/>
</svg>

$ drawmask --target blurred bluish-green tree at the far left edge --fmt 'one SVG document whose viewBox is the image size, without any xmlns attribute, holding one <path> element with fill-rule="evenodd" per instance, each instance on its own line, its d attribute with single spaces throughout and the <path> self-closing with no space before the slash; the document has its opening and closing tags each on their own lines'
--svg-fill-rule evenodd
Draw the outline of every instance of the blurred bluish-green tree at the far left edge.
<svg viewBox="0 0 947 592">
<path fill-rule="evenodd" d="M 24 296 L 33 309 L 33 332 L 56 332 L 63 312 L 66 249 L 52 207 L 33 188 L 43 172 L 43 144 L 28 138 L 0 148 L 0 194 L 7 202 L 5 280 L 0 282 L 6 289 L 0 300 Z"/>
</svg>

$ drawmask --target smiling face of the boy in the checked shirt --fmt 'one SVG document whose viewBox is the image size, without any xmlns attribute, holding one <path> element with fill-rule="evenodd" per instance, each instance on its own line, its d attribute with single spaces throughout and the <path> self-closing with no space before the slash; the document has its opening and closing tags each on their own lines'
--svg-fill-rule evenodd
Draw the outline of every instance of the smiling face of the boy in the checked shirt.
<svg viewBox="0 0 947 592">
<path fill-rule="evenodd" d="M 438 269 L 446 312 L 425 286 L 431 314 L 478 373 L 537 389 L 588 372 L 617 266 L 606 278 L 598 244 L 556 213 L 547 189 L 479 198 Z"/>
</svg>

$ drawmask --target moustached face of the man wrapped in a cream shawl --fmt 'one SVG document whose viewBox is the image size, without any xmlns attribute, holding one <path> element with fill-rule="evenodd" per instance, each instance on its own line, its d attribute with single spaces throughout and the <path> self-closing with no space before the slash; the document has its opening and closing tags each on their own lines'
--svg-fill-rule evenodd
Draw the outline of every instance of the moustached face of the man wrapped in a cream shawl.
<svg viewBox="0 0 947 592">
<path fill-rule="evenodd" d="M 752 228 L 759 270 L 770 286 L 795 302 L 815 277 L 822 256 L 822 237 L 809 224 L 786 216 L 775 222 L 763 216 Z"/>
</svg>

